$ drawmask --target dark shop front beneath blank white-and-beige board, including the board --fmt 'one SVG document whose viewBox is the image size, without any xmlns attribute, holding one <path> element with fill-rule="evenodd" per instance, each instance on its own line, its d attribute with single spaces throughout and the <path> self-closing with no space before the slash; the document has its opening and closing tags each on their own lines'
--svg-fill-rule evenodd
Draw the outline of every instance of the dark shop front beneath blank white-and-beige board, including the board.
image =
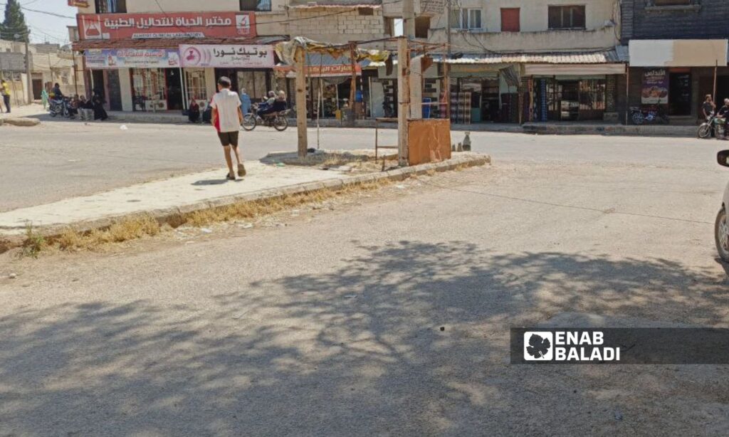
<svg viewBox="0 0 729 437">
<path fill-rule="evenodd" d="M 628 106 L 665 111 L 671 124 L 693 124 L 714 87 L 717 106 L 729 94 L 727 39 L 631 40 L 629 50 Z"/>
</svg>

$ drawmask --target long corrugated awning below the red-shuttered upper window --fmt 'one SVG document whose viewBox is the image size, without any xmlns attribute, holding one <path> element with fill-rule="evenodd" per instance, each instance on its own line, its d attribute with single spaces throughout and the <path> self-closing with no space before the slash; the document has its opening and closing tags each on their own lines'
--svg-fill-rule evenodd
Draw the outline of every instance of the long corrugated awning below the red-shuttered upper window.
<svg viewBox="0 0 729 437">
<path fill-rule="evenodd" d="M 499 64 L 499 63 L 537 63 L 537 64 L 607 64 L 627 63 L 623 47 L 611 50 L 549 53 L 486 53 L 464 54 L 456 59 L 445 59 L 434 55 L 435 62 L 450 64 Z"/>
</svg>

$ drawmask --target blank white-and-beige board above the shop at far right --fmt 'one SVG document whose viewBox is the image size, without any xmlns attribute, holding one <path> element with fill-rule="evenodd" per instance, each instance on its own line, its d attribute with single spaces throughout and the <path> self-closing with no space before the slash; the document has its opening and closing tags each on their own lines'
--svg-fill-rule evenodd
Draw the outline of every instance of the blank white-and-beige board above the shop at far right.
<svg viewBox="0 0 729 437">
<path fill-rule="evenodd" d="M 727 39 L 633 39 L 631 67 L 726 66 Z"/>
</svg>

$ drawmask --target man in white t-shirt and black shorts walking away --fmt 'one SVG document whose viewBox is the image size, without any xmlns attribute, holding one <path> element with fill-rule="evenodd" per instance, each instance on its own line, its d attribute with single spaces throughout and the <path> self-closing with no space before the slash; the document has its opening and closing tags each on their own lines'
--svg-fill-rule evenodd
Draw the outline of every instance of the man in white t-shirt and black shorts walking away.
<svg viewBox="0 0 729 437">
<path fill-rule="evenodd" d="M 241 112 L 241 98 L 237 92 L 230 90 L 230 79 L 222 76 L 218 79 L 218 92 L 210 103 L 213 109 L 211 123 L 218 131 L 218 138 L 225 150 L 225 162 L 228 166 L 227 180 L 235 181 L 233 159 L 230 157 L 230 148 L 235 151 L 235 160 L 238 161 L 238 176 L 246 176 L 241 153 L 238 151 L 238 132 L 243 122 Z"/>
</svg>

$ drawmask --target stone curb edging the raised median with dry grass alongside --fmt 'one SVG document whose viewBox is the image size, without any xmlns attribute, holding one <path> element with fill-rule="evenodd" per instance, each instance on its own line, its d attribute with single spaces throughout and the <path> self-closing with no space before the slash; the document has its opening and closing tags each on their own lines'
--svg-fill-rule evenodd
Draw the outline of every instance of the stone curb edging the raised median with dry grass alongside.
<svg viewBox="0 0 729 437">
<path fill-rule="evenodd" d="M 143 212 L 135 212 L 128 214 L 121 214 L 119 216 L 108 216 L 101 217 L 90 221 L 82 221 L 77 224 L 63 224 L 63 225 L 51 225 L 48 227 L 38 227 L 34 229 L 34 232 L 44 237 L 58 237 L 69 227 L 76 229 L 79 232 L 88 232 L 93 229 L 104 229 L 110 227 L 112 224 L 124 220 L 125 218 L 133 218 L 138 216 L 151 216 L 155 218 L 160 224 L 179 224 L 182 221 L 182 217 L 189 213 L 194 213 L 200 210 L 208 210 L 214 208 L 220 208 L 227 205 L 233 205 L 239 202 L 254 202 L 262 199 L 276 199 L 278 197 L 289 196 L 292 194 L 303 194 L 307 192 L 315 192 L 321 189 L 339 189 L 345 186 L 363 184 L 373 181 L 381 181 L 389 179 L 390 181 L 403 181 L 408 176 L 413 175 L 424 175 L 430 171 L 436 171 L 442 173 L 449 170 L 454 170 L 457 167 L 477 167 L 480 165 L 486 165 L 491 163 L 491 157 L 484 154 L 468 154 L 467 156 L 456 156 L 451 160 L 443 162 L 435 162 L 429 164 L 415 165 L 413 167 L 397 168 L 394 170 L 387 170 L 382 173 L 367 173 L 357 176 L 343 176 L 339 179 L 331 179 L 327 181 L 319 182 L 306 182 L 303 184 L 297 184 L 292 186 L 285 186 L 282 188 L 273 188 L 263 190 L 260 192 L 246 193 L 246 194 L 233 194 L 225 197 L 218 197 L 215 199 L 200 200 L 199 202 L 190 203 L 187 205 L 180 205 L 174 208 L 161 208 L 156 210 L 149 210 Z M 12 229 L 1 229 L 0 228 L 0 253 L 7 251 L 9 248 L 18 247 L 23 244 L 25 240 L 24 235 L 3 235 L 3 230 L 17 230 L 18 228 Z"/>
</svg>

